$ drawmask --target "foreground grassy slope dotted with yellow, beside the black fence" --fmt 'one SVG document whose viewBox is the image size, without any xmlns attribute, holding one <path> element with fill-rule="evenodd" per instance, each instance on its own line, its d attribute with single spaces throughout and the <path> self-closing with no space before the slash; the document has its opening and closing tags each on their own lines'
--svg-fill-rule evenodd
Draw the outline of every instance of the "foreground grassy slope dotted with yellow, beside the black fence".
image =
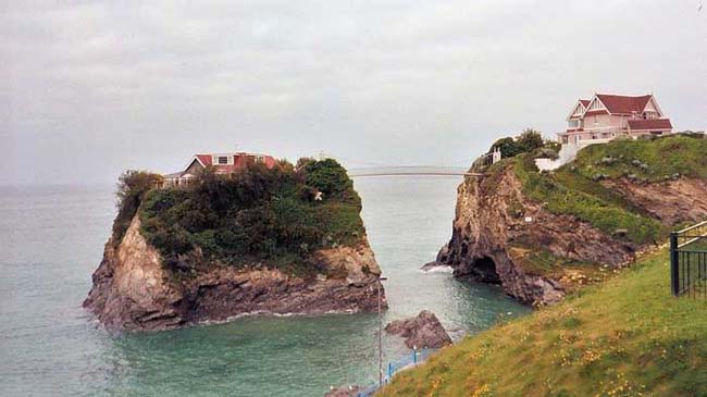
<svg viewBox="0 0 707 397">
<path fill-rule="evenodd" d="M 443 349 L 379 396 L 707 396 L 706 319 L 706 301 L 670 296 L 662 249 Z"/>
</svg>

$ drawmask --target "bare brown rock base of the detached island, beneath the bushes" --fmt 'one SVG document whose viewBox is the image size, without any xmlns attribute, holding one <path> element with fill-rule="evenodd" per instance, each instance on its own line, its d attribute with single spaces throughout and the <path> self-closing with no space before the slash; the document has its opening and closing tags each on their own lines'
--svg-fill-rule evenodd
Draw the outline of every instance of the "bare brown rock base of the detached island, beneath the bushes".
<svg viewBox="0 0 707 397">
<path fill-rule="evenodd" d="M 342 278 L 301 278 L 272 269 L 210 266 L 173 280 L 147 244 L 135 216 L 123 240 L 106 245 L 84 307 L 109 330 L 157 331 L 249 313 L 360 312 L 377 310 L 380 268 L 365 243 L 317 252 Z M 382 291 L 383 306 L 387 307 Z"/>
</svg>

